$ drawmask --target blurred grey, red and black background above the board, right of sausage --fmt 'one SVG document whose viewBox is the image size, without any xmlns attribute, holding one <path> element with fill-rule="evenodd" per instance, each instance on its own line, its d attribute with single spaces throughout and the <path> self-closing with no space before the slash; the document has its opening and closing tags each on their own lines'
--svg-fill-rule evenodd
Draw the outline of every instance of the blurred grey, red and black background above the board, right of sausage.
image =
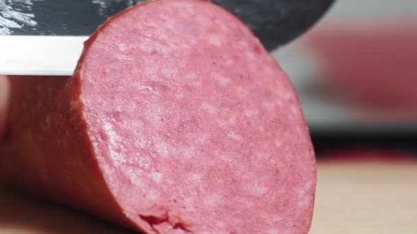
<svg viewBox="0 0 417 234">
<path fill-rule="evenodd" d="M 317 151 L 416 151 L 417 1 L 337 0 L 274 57 L 296 86 Z"/>
</svg>

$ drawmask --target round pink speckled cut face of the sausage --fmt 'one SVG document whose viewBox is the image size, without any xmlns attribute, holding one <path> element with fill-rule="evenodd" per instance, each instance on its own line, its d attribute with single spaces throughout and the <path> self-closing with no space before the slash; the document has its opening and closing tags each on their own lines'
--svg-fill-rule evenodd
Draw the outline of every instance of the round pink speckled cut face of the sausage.
<svg viewBox="0 0 417 234">
<path fill-rule="evenodd" d="M 90 138 L 141 228 L 307 231 L 305 121 L 287 77 L 237 18 L 202 1 L 147 3 L 86 48 L 75 79 Z"/>
</svg>

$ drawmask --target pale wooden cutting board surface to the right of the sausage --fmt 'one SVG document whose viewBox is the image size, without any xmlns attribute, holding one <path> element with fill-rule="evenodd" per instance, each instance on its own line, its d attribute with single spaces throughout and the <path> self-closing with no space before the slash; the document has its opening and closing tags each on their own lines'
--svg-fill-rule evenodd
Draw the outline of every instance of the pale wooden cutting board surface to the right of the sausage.
<svg viewBox="0 0 417 234">
<path fill-rule="evenodd" d="M 319 164 L 312 234 L 416 234 L 417 164 Z"/>
</svg>

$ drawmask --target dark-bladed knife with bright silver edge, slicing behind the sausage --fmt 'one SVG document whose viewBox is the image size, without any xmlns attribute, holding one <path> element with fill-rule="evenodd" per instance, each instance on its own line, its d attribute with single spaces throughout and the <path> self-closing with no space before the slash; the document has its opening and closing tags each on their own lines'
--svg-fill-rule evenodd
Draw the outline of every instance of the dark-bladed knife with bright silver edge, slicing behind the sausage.
<svg viewBox="0 0 417 234">
<path fill-rule="evenodd" d="M 106 19 L 144 0 L 0 0 L 0 74 L 72 75 L 83 42 Z M 213 0 L 266 49 L 294 40 L 334 0 Z"/>
</svg>

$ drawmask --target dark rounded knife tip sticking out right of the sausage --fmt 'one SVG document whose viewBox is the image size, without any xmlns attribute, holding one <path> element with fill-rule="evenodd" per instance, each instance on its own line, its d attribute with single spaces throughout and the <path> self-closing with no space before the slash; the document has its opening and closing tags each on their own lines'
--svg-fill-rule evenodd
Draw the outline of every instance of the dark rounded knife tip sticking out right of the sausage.
<svg viewBox="0 0 417 234">
<path fill-rule="evenodd" d="M 335 0 L 213 0 L 237 15 L 272 51 L 316 23 Z"/>
</svg>

